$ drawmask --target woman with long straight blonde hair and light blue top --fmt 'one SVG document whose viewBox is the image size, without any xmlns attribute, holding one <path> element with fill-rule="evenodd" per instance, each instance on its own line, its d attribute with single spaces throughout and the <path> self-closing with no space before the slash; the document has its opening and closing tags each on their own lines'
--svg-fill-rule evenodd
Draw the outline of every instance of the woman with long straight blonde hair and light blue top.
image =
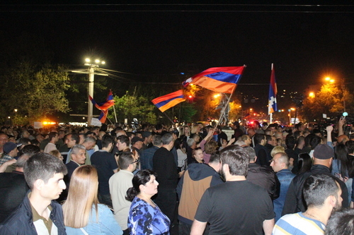
<svg viewBox="0 0 354 235">
<path fill-rule="evenodd" d="M 95 167 L 75 169 L 67 201 L 63 205 L 64 224 L 68 235 L 121 235 L 122 229 L 108 206 L 98 204 L 98 175 Z"/>
</svg>

